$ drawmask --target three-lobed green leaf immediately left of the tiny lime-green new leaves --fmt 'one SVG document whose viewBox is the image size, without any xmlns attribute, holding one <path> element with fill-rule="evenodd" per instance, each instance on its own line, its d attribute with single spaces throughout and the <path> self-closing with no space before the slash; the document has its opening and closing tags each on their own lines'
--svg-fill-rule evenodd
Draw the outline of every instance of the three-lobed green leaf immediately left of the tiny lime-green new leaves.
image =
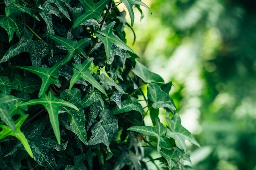
<svg viewBox="0 0 256 170">
<path fill-rule="evenodd" d="M 97 80 L 94 77 L 92 77 L 92 74 L 89 70 L 89 67 L 92 61 L 93 61 L 93 58 L 89 58 L 88 60 L 85 60 L 85 62 L 83 62 L 82 64 L 73 64 L 74 75 L 70 80 L 70 89 L 74 86 L 77 79 L 83 78 L 87 82 L 92 84 L 92 86 L 97 88 L 101 93 L 108 96 L 104 88 L 99 84 L 99 82 L 97 82 Z"/>
</svg>

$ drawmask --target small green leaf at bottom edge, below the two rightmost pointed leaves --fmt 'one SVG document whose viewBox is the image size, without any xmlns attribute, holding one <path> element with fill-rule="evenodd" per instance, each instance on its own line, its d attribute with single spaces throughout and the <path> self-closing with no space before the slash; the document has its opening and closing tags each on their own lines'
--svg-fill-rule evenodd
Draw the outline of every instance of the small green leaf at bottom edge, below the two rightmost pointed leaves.
<svg viewBox="0 0 256 170">
<path fill-rule="evenodd" d="M 176 167 L 177 161 L 179 161 L 178 152 L 175 149 L 167 150 L 162 148 L 160 154 L 164 157 L 168 164 L 168 170 L 172 170 L 173 167 Z"/>
</svg>

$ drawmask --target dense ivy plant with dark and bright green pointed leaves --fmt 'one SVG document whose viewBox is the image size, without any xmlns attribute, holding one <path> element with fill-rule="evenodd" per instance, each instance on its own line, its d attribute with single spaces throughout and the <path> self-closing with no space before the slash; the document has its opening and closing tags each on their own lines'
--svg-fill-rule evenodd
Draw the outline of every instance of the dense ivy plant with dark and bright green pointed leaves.
<svg viewBox="0 0 256 170">
<path fill-rule="evenodd" d="M 141 0 L 0 1 L 1 169 L 191 169 L 185 140 L 199 144 L 181 125 L 172 83 L 126 44 L 133 7 L 149 9 Z"/>
</svg>

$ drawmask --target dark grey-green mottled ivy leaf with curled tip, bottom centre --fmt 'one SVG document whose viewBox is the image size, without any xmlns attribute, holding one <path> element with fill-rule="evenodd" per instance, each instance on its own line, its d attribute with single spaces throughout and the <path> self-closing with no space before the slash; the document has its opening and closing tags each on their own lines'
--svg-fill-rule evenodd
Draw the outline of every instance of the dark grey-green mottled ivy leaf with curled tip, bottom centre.
<svg viewBox="0 0 256 170">
<path fill-rule="evenodd" d="M 88 145 L 100 143 L 106 145 L 108 150 L 106 160 L 108 160 L 113 155 L 109 145 L 118 130 L 118 119 L 110 113 L 109 109 L 102 110 L 99 117 L 100 121 L 92 126 L 92 136 L 88 141 Z"/>
</svg>

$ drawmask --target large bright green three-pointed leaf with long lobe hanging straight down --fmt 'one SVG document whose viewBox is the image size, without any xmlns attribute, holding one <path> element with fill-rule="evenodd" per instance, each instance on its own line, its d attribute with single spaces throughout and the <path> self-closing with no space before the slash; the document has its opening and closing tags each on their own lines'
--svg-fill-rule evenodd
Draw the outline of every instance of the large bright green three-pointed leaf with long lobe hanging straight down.
<svg viewBox="0 0 256 170">
<path fill-rule="evenodd" d="M 58 121 L 58 109 L 60 106 L 66 106 L 66 107 L 74 108 L 75 110 L 79 111 L 79 108 L 77 108 L 74 104 L 70 102 L 66 102 L 65 100 L 58 99 L 52 94 L 51 91 L 49 91 L 48 96 L 44 94 L 43 97 L 41 97 L 40 99 L 29 100 L 28 102 L 24 102 L 23 104 L 21 104 L 21 106 L 29 106 L 29 105 L 36 105 L 36 104 L 41 104 L 45 106 L 49 114 L 49 119 L 52 124 L 52 128 L 54 130 L 54 134 L 56 136 L 58 144 L 61 144 L 61 133 L 60 133 L 60 127 L 59 127 L 59 121 Z"/>
</svg>

